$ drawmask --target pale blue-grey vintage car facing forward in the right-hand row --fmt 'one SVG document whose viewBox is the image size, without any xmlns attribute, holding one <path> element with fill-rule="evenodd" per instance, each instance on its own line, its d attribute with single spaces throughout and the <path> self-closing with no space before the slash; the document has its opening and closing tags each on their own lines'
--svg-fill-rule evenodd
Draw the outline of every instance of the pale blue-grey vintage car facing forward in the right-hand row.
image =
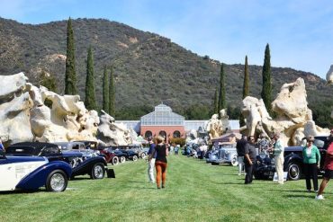
<svg viewBox="0 0 333 222">
<path fill-rule="evenodd" d="M 211 155 L 211 164 L 230 164 L 238 165 L 238 155 L 235 143 L 222 142 L 216 148 L 216 152 Z"/>
</svg>

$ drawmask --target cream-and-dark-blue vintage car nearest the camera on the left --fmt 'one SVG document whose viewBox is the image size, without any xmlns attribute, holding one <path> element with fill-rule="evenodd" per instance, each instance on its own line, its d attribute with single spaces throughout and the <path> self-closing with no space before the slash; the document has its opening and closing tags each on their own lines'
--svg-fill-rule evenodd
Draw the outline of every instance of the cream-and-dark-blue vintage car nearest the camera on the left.
<svg viewBox="0 0 333 222">
<path fill-rule="evenodd" d="M 39 156 L 4 155 L 0 150 L 0 191 L 65 191 L 72 167 L 63 161 Z"/>
</svg>

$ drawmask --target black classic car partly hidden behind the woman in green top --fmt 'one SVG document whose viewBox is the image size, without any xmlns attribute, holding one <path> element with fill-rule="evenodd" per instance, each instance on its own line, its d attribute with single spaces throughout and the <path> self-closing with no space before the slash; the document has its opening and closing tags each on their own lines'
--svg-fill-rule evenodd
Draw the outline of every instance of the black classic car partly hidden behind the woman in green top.
<svg viewBox="0 0 333 222">
<path fill-rule="evenodd" d="M 313 144 L 320 150 L 320 169 L 319 174 L 324 173 L 323 164 L 327 150 L 327 138 L 325 136 L 314 137 Z M 306 144 L 306 138 L 302 139 L 299 147 L 284 148 L 284 172 L 287 172 L 287 178 L 291 181 L 297 181 L 302 178 L 303 156 L 302 147 Z M 275 173 L 275 160 L 273 156 L 257 155 L 254 175 L 256 179 L 272 178 Z"/>
</svg>

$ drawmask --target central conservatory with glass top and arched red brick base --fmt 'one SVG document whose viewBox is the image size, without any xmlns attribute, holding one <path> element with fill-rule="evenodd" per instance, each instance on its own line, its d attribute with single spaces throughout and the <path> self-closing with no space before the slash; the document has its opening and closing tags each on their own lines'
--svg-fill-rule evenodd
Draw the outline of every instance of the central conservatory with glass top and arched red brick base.
<svg viewBox="0 0 333 222">
<path fill-rule="evenodd" d="M 184 117 L 176 114 L 165 104 L 159 104 L 155 110 L 140 118 L 140 133 L 144 138 L 161 135 L 166 138 L 184 138 Z"/>
</svg>

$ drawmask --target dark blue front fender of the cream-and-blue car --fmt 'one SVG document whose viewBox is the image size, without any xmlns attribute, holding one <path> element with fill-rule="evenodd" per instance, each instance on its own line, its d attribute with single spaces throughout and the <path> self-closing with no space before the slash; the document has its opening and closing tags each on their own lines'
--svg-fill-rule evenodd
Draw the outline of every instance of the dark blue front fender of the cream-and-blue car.
<svg viewBox="0 0 333 222">
<path fill-rule="evenodd" d="M 62 170 L 70 178 L 72 174 L 72 167 L 63 161 L 53 161 L 48 164 L 44 164 L 26 175 L 21 182 L 16 185 L 16 189 L 22 190 L 37 190 L 41 186 L 44 186 L 49 173 L 54 170 Z"/>
</svg>

